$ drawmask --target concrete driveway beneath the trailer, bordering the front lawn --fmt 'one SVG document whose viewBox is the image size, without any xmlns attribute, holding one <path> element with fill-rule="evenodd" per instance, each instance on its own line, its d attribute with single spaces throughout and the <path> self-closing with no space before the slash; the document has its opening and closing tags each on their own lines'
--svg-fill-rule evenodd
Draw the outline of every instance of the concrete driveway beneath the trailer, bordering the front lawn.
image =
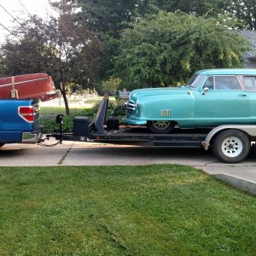
<svg viewBox="0 0 256 256">
<path fill-rule="evenodd" d="M 54 140 L 46 142 L 55 143 Z M 99 143 L 63 142 L 54 148 L 7 144 L 0 149 L 0 166 L 194 166 L 239 189 L 256 195 L 256 152 L 239 164 L 218 161 L 202 148 L 150 148 Z"/>
</svg>

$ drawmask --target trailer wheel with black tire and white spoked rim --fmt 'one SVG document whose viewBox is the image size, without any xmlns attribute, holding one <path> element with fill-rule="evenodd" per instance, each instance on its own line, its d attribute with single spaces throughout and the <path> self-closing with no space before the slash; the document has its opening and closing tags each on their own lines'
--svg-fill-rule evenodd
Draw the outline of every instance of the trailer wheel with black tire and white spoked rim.
<svg viewBox="0 0 256 256">
<path fill-rule="evenodd" d="M 238 163 L 247 157 L 251 148 L 247 135 L 238 130 L 221 131 L 212 143 L 213 154 L 224 163 Z"/>
</svg>

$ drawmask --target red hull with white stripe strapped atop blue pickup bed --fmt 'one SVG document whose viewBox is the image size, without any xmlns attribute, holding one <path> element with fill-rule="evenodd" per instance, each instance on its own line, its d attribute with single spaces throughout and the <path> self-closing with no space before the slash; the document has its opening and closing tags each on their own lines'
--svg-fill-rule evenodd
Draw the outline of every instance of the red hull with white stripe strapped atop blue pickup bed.
<svg viewBox="0 0 256 256">
<path fill-rule="evenodd" d="M 0 99 L 40 99 L 49 101 L 58 96 L 47 73 L 30 73 L 0 79 Z"/>
</svg>

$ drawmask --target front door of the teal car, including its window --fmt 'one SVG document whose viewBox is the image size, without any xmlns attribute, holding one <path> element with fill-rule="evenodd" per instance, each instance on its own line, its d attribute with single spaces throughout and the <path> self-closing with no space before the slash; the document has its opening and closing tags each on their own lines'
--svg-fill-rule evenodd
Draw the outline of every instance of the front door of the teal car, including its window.
<svg viewBox="0 0 256 256">
<path fill-rule="evenodd" d="M 208 76 L 195 94 L 197 127 L 248 124 L 250 98 L 236 76 Z"/>
</svg>

